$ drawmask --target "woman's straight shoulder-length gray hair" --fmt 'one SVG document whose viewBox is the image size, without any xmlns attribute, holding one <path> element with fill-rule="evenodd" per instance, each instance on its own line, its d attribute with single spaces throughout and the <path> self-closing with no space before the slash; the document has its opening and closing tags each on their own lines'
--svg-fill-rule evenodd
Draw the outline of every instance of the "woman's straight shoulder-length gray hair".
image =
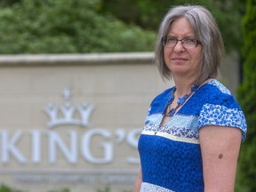
<svg viewBox="0 0 256 192">
<path fill-rule="evenodd" d="M 196 38 L 202 44 L 200 59 L 201 74 L 195 84 L 202 84 L 207 78 L 217 78 L 220 75 L 220 60 L 224 52 L 224 44 L 220 29 L 212 13 L 201 5 L 175 6 L 164 16 L 156 37 L 156 65 L 160 75 L 165 79 L 172 79 L 172 71 L 164 61 L 164 46 L 162 37 L 167 36 L 174 20 L 186 18 L 194 28 Z"/>
</svg>

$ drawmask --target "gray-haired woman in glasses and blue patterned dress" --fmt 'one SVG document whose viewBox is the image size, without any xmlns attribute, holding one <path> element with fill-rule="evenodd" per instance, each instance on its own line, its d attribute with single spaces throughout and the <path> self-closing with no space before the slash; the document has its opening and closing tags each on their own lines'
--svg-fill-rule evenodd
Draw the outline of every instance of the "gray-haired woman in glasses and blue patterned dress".
<svg viewBox="0 0 256 192">
<path fill-rule="evenodd" d="M 234 191 L 244 114 L 220 84 L 223 42 L 200 5 L 172 8 L 156 40 L 156 64 L 175 86 L 157 95 L 140 135 L 135 191 Z"/>
</svg>

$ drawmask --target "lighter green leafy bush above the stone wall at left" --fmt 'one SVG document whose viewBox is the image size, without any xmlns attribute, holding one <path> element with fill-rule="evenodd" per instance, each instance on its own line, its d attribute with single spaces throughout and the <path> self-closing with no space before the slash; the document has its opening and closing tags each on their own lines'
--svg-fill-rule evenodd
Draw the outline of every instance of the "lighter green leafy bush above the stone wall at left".
<svg viewBox="0 0 256 192">
<path fill-rule="evenodd" d="M 100 15 L 99 7 L 100 0 L 20 0 L 2 6 L 0 53 L 152 51 L 155 32 Z"/>
</svg>

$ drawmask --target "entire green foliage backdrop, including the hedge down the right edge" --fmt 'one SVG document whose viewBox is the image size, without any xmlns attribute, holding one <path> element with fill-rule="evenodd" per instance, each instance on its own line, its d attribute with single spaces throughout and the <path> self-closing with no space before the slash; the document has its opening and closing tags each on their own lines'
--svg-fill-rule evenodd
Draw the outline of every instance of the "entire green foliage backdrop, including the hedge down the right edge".
<svg viewBox="0 0 256 192">
<path fill-rule="evenodd" d="M 256 191 L 255 0 L 0 0 L 0 54 L 151 52 L 159 23 L 176 4 L 206 6 L 219 23 L 228 52 L 239 52 L 244 60 L 238 101 L 248 135 L 236 191 Z"/>
</svg>

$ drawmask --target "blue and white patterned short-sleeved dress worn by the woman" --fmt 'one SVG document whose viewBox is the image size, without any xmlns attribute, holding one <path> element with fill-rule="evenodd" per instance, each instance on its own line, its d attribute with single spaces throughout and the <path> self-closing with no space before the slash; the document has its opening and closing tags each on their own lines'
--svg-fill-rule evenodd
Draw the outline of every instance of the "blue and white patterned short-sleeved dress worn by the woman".
<svg viewBox="0 0 256 192">
<path fill-rule="evenodd" d="M 199 130 L 205 125 L 238 128 L 246 135 L 244 114 L 231 92 L 217 80 L 200 87 L 160 127 L 173 87 L 152 101 L 140 135 L 141 192 L 204 191 Z"/>
</svg>

